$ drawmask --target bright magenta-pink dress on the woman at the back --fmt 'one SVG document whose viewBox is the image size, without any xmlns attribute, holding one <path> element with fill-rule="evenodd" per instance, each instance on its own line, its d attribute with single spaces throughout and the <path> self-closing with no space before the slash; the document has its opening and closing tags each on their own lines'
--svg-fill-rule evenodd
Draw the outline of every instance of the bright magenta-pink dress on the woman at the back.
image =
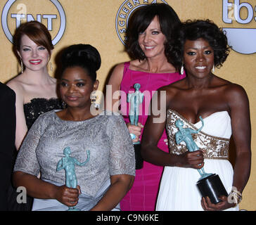
<svg viewBox="0 0 256 225">
<path fill-rule="evenodd" d="M 148 117 L 148 107 L 155 91 L 161 86 L 166 86 L 183 79 L 185 75 L 175 73 L 150 73 L 136 70 L 129 70 L 129 62 L 124 63 L 124 74 L 120 84 L 121 90 L 121 111 L 126 123 L 129 122 L 129 103 L 127 94 L 133 93 L 134 84 L 141 84 L 139 91 L 144 94 L 143 103 L 140 105 L 139 122 L 145 124 Z M 143 129 L 141 131 L 143 134 Z M 167 139 L 166 131 L 163 132 L 158 148 L 168 152 L 168 147 L 164 142 Z M 143 168 L 136 170 L 134 184 L 131 190 L 124 196 L 120 206 L 123 211 L 154 211 L 158 196 L 160 179 L 163 167 L 143 162 Z"/>
</svg>

